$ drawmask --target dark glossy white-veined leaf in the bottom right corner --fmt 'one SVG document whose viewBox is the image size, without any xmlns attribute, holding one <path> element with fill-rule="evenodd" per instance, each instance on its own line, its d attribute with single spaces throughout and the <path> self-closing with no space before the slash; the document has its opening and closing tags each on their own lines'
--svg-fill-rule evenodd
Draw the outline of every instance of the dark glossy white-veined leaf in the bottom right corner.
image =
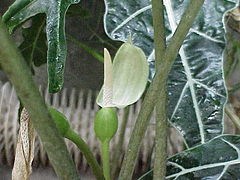
<svg viewBox="0 0 240 180">
<path fill-rule="evenodd" d="M 166 179 L 240 179 L 240 136 L 219 136 L 168 160 Z M 151 180 L 149 171 L 138 180 Z"/>
</svg>

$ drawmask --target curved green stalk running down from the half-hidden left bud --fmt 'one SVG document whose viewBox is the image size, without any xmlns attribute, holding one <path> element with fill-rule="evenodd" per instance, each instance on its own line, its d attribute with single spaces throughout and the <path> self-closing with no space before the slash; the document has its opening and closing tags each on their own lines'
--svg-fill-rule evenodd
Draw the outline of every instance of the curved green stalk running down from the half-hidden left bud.
<svg viewBox="0 0 240 180">
<path fill-rule="evenodd" d="M 88 145 L 81 139 L 77 133 L 73 130 L 67 131 L 65 137 L 71 140 L 83 153 L 84 157 L 86 158 L 89 166 L 91 167 L 93 174 L 97 178 L 97 180 L 104 180 L 102 168 L 99 166 L 96 158 L 94 157 L 92 151 L 88 147 Z"/>
</svg>

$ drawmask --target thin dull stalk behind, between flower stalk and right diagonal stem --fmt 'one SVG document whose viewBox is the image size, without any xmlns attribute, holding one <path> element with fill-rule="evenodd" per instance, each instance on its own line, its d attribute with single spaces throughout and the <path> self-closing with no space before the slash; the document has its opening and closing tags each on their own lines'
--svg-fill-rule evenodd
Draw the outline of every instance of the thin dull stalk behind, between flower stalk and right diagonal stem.
<svg viewBox="0 0 240 180">
<path fill-rule="evenodd" d="M 119 132 L 119 139 L 118 143 L 114 148 L 114 156 L 112 160 L 112 178 L 116 179 L 119 171 L 119 165 L 120 165 L 120 158 L 121 154 L 123 151 L 123 142 L 125 138 L 125 132 L 126 132 L 126 127 L 127 127 L 127 122 L 128 122 L 128 116 L 129 116 L 129 106 L 124 109 L 124 114 L 123 114 L 123 119 L 120 127 L 120 132 Z"/>
</svg>

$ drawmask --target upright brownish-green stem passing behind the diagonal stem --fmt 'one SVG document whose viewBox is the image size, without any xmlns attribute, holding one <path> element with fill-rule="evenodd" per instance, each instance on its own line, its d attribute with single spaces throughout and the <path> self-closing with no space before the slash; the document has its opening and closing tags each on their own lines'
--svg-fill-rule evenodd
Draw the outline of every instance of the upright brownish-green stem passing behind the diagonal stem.
<svg viewBox="0 0 240 180">
<path fill-rule="evenodd" d="M 158 71 L 166 48 L 163 0 L 152 0 L 155 63 Z M 155 157 L 153 180 L 164 180 L 167 161 L 167 83 L 156 102 Z"/>
</svg>

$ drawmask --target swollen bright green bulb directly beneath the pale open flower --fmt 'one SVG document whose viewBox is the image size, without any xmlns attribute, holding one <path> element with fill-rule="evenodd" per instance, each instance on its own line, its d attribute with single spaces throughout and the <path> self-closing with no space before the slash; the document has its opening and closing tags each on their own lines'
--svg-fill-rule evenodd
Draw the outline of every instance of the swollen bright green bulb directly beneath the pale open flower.
<svg viewBox="0 0 240 180">
<path fill-rule="evenodd" d="M 95 116 L 94 131 L 100 141 L 109 141 L 117 132 L 118 117 L 113 108 L 100 109 Z"/>
</svg>

